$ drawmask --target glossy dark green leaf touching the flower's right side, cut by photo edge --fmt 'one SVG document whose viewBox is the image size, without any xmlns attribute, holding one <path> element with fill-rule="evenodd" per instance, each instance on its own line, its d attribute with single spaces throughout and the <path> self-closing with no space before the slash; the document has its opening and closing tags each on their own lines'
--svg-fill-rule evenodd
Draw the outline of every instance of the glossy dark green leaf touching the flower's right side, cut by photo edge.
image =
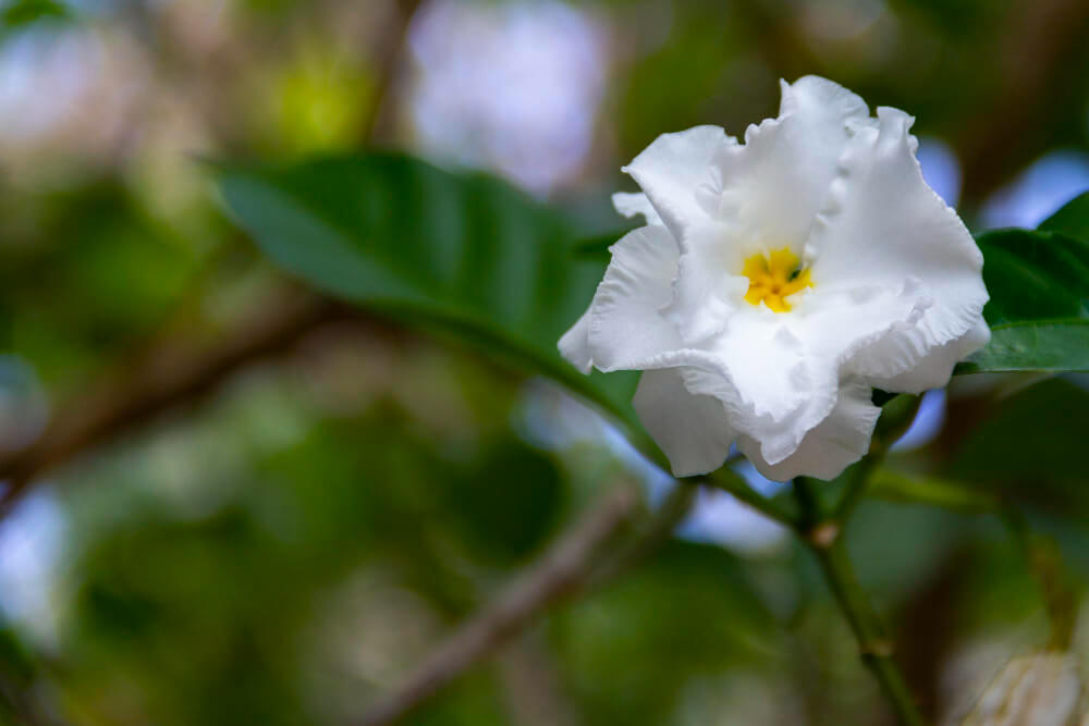
<svg viewBox="0 0 1089 726">
<path fill-rule="evenodd" d="M 1089 370 L 1089 241 L 996 230 L 977 242 L 991 342 L 956 372 Z"/>
</svg>

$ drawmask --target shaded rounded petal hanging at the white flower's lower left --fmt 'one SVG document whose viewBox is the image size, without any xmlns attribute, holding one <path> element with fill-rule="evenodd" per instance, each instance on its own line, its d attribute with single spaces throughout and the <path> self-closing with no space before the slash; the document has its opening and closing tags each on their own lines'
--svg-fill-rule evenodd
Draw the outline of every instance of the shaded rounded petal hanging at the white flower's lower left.
<svg viewBox="0 0 1089 726">
<path fill-rule="evenodd" d="M 632 403 L 674 476 L 709 473 L 725 462 L 734 440 L 725 408 L 711 396 L 688 393 L 678 369 L 646 371 Z"/>
</svg>

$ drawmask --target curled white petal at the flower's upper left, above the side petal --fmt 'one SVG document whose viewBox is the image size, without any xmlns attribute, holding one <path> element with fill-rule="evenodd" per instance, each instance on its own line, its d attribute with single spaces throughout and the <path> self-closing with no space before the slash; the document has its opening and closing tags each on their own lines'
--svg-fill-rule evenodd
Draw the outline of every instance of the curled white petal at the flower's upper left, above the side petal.
<svg viewBox="0 0 1089 726">
<path fill-rule="evenodd" d="M 623 171 L 646 193 L 674 237 L 708 218 L 700 188 L 711 181 L 711 158 L 736 144 L 721 126 L 696 126 L 662 134 Z"/>
</svg>

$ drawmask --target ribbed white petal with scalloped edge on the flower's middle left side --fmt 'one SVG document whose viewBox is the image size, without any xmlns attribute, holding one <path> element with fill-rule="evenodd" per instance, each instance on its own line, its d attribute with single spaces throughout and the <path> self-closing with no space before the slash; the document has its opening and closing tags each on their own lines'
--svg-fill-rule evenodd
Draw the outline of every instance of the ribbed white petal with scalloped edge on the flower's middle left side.
<svg viewBox="0 0 1089 726">
<path fill-rule="evenodd" d="M 676 243 L 664 226 L 647 225 L 610 249 L 612 261 L 590 306 L 590 357 L 603 371 L 648 368 L 651 359 L 682 347 L 661 315 L 673 295 Z"/>
</svg>

